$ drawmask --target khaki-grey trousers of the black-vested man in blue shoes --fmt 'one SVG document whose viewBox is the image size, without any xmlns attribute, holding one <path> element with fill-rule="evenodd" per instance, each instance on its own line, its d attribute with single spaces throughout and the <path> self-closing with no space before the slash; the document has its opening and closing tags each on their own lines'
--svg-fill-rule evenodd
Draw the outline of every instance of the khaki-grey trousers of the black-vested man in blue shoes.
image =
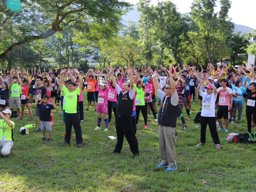
<svg viewBox="0 0 256 192">
<path fill-rule="evenodd" d="M 171 168 L 176 166 L 175 130 L 175 127 L 159 126 L 159 150 L 162 164 L 168 164 Z"/>
</svg>

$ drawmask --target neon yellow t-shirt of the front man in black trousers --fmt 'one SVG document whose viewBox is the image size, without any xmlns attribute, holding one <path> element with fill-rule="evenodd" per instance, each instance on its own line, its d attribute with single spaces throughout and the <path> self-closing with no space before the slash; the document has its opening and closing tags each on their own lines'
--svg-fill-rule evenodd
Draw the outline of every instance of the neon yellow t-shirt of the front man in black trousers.
<svg viewBox="0 0 256 192">
<path fill-rule="evenodd" d="M 79 89 L 79 87 L 77 87 L 75 91 L 69 92 L 68 88 L 63 86 L 62 90 L 65 94 L 64 99 L 65 99 L 65 105 L 67 106 L 67 108 L 65 106 L 65 112 L 66 113 L 79 113 L 78 99 L 79 99 L 81 89 Z"/>
</svg>

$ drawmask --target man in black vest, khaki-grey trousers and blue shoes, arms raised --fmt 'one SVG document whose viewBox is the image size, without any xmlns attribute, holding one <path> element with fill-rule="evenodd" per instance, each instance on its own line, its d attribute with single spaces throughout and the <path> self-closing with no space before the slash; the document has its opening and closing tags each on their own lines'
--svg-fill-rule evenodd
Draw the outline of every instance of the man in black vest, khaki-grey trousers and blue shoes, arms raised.
<svg viewBox="0 0 256 192">
<path fill-rule="evenodd" d="M 159 89 L 156 82 L 157 73 L 154 72 L 152 76 L 157 96 L 162 100 L 158 113 L 159 150 L 162 163 L 156 167 L 168 167 L 166 171 L 174 171 L 177 169 L 174 143 L 179 97 L 172 78 L 172 65 L 169 74 L 170 83 L 165 85 L 164 92 Z"/>
</svg>

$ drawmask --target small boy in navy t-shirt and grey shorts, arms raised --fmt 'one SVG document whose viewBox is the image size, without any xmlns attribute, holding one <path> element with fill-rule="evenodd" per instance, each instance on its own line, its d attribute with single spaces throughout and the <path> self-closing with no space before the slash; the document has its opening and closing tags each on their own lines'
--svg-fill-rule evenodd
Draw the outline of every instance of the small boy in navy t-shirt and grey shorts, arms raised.
<svg viewBox="0 0 256 192">
<path fill-rule="evenodd" d="M 49 139 L 46 142 L 52 141 L 52 128 L 51 128 L 51 110 L 56 108 L 55 103 L 51 98 L 52 105 L 49 103 L 49 96 L 44 95 L 43 103 L 39 104 L 38 100 L 41 98 L 41 95 L 38 95 L 36 98 L 36 107 L 39 108 L 40 114 L 44 114 L 40 116 L 41 121 L 41 131 L 43 132 L 44 137 L 40 141 L 46 140 L 45 130 L 49 133 Z"/>
</svg>

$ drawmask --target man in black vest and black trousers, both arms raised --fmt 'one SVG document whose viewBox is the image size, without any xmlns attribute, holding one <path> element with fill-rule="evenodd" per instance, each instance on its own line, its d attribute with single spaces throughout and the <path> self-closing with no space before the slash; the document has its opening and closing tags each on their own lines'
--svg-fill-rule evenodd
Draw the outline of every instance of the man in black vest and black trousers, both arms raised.
<svg viewBox="0 0 256 192">
<path fill-rule="evenodd" d="M 114 71 L 112 66 L 109 66 L 109 73 L 111 78 L 115 79 Z M 132 77 L 132 70 L 128 67 L 127 74 Z M 130 78 L 130 83 L 126 82 L 123 84 L 122 89 L 113 81 L 113 86 L 117 92 L 117 103 L 116 103 L 116 135 L 117 143 L 114 151 L 110 153 L 120 153 L 123 147 L 124 136 L 130 145 L 130 149 L 133 153 L 133 158 L 140 155 L 138 140 L 135 133 L 133 132 L 132 126 L 132 109 L 134 103 L 134 89 L 133 79 Z"/>
</svg>

